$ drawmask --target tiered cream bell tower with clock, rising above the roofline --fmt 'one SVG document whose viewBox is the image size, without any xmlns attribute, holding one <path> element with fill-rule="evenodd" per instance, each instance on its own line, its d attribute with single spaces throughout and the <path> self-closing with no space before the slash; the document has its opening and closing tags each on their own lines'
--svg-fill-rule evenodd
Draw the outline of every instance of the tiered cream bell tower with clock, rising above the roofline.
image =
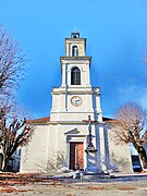
<svg viewBox="0 0 147 196">
<path fill-rule="evenodd" d="M 86 38 L 73 32 L 65 38 L 65 56 L 60 57 L 62 82 L 52 90 L 50 121 L 82 122 L 90 115 L 102 121 L 100 91 L 90 84 L 91 57 L 87 57 Z"/>
</svg>

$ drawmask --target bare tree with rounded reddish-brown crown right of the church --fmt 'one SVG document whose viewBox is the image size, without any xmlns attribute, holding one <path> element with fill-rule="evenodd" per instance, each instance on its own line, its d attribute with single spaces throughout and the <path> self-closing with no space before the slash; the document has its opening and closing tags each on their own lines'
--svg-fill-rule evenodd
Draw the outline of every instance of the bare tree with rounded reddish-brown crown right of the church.
<svg viewBox="0 0 147 196">
<path fill-rule="evenodd" d="M 147 157 L 144 148 L 147 144 L 147 113 L 134 102 L 121 106 L 117 112 L 114 126 L 117 143 L 132 143 L 138 152 L 143 169 L 147 169 Z"/>
</svg>

